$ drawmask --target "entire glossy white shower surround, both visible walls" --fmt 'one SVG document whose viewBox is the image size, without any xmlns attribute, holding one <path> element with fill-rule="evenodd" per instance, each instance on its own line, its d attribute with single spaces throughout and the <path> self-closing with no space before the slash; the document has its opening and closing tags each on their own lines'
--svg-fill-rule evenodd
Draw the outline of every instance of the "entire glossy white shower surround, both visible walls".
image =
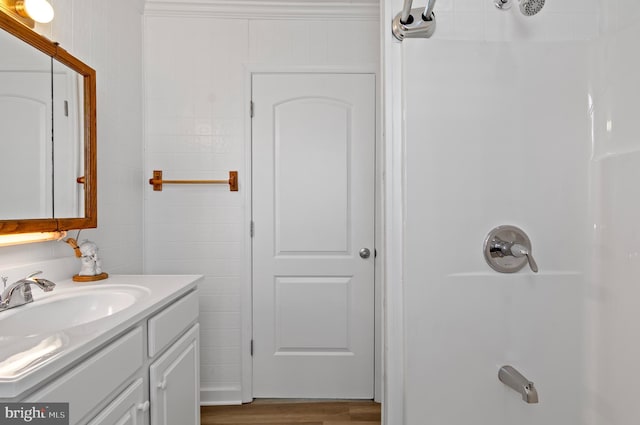
<svg viewBox="0 0 640 425">
<path fill-rule="evenodd" d="M 524 18 L 439 0 L 436 16 L 432 39 L 402 44 L 383 22 L 387 195 L 403 197 L 387 229 L 404 228 L 386 423 L 635 423 L 640 6 L 548 1 Z M 529 233 L 539 274 L 484 263 L 499 224 Z M 502 364 L 540 404 L 498 382 Z"/>
</svg>

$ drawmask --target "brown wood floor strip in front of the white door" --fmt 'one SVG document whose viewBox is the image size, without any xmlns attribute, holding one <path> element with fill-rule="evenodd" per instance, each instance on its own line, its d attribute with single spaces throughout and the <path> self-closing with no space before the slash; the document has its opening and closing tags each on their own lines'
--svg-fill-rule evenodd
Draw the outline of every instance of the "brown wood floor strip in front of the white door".
<svg viewBox="0 0 640 425">
<path fill-rule="evenodd" d="M 256 400 L 242 406 L 203 406 L 201 425 L 380 425 L 373 401 Z"/>
</svg>

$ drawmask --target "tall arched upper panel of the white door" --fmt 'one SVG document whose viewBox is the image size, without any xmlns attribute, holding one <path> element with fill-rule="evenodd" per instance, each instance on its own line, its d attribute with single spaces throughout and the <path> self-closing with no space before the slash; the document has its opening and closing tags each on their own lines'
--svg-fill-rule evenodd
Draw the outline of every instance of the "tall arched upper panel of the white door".
<svg viewBox="0 0 640 425">
<path fill-rule="evenodd" d="M 350 109 L 319 97 L 274 108 L 278 255 L 349 252 Z M 313 227 L 301 217 L 314 217 Z"/>
</svg>

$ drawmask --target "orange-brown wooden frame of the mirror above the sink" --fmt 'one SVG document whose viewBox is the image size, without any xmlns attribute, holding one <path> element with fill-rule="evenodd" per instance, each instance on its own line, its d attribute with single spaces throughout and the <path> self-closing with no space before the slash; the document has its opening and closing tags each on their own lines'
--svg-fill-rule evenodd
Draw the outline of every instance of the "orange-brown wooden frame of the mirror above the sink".
<svg viewBox="0 0 640 425">
<path fill-rule="evenodd" d="M 3 10 L 0 10 L 0 29 L 14 35 L 84 77 L 83 119 L 85 128 L 84 217 L 0 220 L 0 235 L 97 227 L 96 71 L 61 48 L 58 43 L 36 33 Z M 82 183 L 78 182 L 78 184 Z"/>
</svg>

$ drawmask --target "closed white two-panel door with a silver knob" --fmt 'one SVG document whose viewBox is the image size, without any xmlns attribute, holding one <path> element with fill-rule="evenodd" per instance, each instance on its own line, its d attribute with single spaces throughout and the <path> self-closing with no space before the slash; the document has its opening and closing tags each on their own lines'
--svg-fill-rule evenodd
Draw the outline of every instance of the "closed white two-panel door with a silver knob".
<svg viewBox="0 0 640 425">
<path fill-rule="evenodd" d="M 373 398 L 375 77 L 256 74 L 252 100 L 253 396 Z"/>
</svg>

